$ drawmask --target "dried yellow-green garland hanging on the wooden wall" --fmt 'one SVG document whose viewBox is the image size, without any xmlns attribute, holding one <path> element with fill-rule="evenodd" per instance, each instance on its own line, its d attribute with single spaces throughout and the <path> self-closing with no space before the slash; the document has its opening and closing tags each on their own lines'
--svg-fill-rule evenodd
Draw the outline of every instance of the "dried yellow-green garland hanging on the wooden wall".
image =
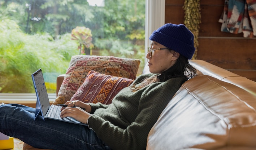
<svg viewBox="0 0 256 150">
<path fill-rule="evenodd" d="M 199 24 L 201 23 L 200 0 L 185 0 L 183 9 L 185 10 L 184 25 L 194 34 L 196 50 L 192 59 L 197 59 Z"/>
</svg>

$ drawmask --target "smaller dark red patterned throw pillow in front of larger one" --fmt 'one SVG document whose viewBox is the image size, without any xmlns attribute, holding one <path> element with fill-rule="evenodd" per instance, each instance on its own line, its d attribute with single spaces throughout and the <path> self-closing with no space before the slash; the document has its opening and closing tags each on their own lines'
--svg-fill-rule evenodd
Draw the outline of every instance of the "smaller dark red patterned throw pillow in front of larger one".
<svg viewBox="0 0 256 150">
<path fill-rule="evenodd" d="M 114 96 L 133 81 L 132 79 L 100 74 L 92 70 L 88 72 L 86 79 L 73 95 L 71 101 L 110 104 Z"/>
</svg>

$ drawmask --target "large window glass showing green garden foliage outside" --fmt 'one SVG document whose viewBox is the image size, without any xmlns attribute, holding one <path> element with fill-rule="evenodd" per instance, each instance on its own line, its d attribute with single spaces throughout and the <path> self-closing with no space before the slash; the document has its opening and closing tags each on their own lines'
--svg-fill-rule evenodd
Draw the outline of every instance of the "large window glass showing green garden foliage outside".
<svg viewBox="0 0 256 150">
<path fill-rule="evenodd" d="M 0 93 L 34 93 L 39 68 L 55 93 L 78 54 L 137 58 L 140 74 L 144 36 L 145 0 L 0 0 Z"/>
</svg>

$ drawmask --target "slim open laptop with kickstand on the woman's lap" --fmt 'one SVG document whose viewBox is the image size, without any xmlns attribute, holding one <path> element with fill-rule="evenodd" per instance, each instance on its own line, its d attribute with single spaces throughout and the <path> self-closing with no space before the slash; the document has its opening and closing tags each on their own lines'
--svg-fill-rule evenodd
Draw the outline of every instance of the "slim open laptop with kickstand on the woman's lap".
<svg viewBox="0 0 256 150">
<path fill-rule="evenodd" d="M 60 121 L 69 122 L 69 123 L 87 125 L 79 122 L 78 120 L 72 117 L 60 118 L 61 106 L 50 105 L 48 93 L 45 87 L 42 69 L 38 69 L 31 76 L 34 83 L 35 93 L 36 93 L 35 119 L 41 114 L 43 120 L 54 119 L 54 120 L 60 120 Z"/>
</svg>

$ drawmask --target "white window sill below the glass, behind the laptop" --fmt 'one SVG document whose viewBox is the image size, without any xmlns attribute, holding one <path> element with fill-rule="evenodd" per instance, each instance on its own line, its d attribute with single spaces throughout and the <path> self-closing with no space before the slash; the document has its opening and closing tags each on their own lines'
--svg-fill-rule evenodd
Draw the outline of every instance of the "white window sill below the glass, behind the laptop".
<svg viewBox="0 0 256 150">
<path fill-rule="evenodd" d="M 52 103 L 56 93 L 48 93 L 49 101 Z M 0 103 L 36 103 L 35 93 L 0 93 Z"/>
</svg>

